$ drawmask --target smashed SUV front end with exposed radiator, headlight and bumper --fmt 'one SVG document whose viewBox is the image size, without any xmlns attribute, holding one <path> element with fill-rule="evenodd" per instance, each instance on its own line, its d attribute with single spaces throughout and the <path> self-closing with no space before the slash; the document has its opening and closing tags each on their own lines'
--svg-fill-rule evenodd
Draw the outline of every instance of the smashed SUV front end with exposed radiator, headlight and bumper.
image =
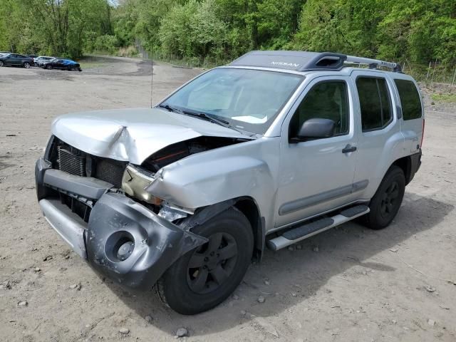
<svg viewBox="0 0 456 342">
<path fill-rule="evenodd" d="M 207 242 L 172 223 L 192 211 L 141 195 L 153 180 L 140 167 L 87 155 L 55 137 L 36 162 L 38 201 L 51 227 L 93 268 L 131 288 L 150 288 Z"/>
</svg>

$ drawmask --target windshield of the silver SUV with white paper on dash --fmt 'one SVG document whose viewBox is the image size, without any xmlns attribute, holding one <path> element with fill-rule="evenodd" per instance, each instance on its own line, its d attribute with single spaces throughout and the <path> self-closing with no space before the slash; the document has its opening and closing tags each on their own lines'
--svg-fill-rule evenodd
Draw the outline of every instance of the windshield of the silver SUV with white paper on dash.
<svg viewBox="0 0 456 342">
<path fill-rule="evenodd" d="M 303 78 L 275 71 L 216 68 L 161 105 L 204 113 L 233 128 L 264 134 Z"/>
</svg>

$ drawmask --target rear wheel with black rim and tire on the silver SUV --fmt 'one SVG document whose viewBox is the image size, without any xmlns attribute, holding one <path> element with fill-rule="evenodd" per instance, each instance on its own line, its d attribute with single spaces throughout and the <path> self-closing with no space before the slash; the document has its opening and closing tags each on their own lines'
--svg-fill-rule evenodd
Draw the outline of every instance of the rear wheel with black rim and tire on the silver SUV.
<svg viewBox="0 0 456 342">
<path fill-rule="evenodd" d="M 405 192 L 405 176 L 398 166 L 391 166 L 383 177 L 377 192 L 371 199 L 371 212 L 365 216 L 365 224 L 371 229 L 383 229 L 398 214 Z"/>
</svg>

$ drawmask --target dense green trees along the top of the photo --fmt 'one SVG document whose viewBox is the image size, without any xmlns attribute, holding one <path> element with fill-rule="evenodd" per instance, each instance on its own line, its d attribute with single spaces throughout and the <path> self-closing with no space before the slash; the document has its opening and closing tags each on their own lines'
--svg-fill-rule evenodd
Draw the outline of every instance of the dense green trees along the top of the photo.
<svg viewBox="0 0 456 342">
<path fill-rule="evenodd" d="M 454 0 L 0 0 L 0 50 L 180 57 L 252 49 L 456 63 Z"/>
</svg>

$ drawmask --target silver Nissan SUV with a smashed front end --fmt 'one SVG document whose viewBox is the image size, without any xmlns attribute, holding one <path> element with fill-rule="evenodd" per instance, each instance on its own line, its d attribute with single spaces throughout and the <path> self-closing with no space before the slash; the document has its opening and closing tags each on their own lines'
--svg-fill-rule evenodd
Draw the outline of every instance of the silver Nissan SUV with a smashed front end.
<svg viewBox="0 0 456 342">
<path fill-rule="evenodd" d="M 196 314 L 226 299 L 265 247 L 357 217 L 388 226 L 423 129 L 418 86 L 396 63 L 253 51 L 155 108 L 57 118 L 36 190 L 91 266 Z"/>
</svg>

